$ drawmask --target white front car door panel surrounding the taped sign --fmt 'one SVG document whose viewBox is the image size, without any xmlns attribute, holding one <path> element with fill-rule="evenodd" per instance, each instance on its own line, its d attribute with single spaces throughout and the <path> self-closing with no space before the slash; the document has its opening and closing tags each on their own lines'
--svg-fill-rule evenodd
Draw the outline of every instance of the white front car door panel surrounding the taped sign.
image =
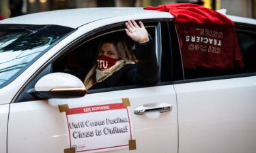
<svg viewBox="0 0 256 153">
<path fill-rule="evenodd" d="M 145 25 L 147 26 L 147 24 Z M 89 27 L 90 24 L 86 26 Z M 171 57 L 159 58 L 162 53 L 161 40 L 163 37 L 166 38 L 161 35 L 160 22 L 157 22 L 153 28 L 155 29 L 153 37 L 156 43 L 158 63 L 159 65 L 165 63 L 162 66 L 162 71 L 166 68 L 168 68 L 166 71 L 170 71 L 171 67 L 168 63 Z M 169 46 L 165 49 L 165 52 L 170 51 Z M 68 104 L 72 107 L 74 105 L 95 105 L 96 103 L 118 103 L 122 102 L 122 98 L 128 98 L 130 101 L 132 139 L 136 140 L 137 146 L 133 152 L 177 152 L 176 96 L 171 79 L 165 76 L 165 82 L 159 82 L 152 86 L 123 86 L 94 90 L 81 98 L 16 101 L 10 106 L 8 153 L 64 152 L 64 149 L 70 148 L 68 130 L 66 129 L 66 117 L 59 112 L 58 105 Z M 134 109 L 138 107 L 156 109 L 160 104 L 170 105 L 171 111 L 149 112 L 144 115 L 134 114 Z M 130 151 L 126 149 L 110 152 Z"/>
</svg>

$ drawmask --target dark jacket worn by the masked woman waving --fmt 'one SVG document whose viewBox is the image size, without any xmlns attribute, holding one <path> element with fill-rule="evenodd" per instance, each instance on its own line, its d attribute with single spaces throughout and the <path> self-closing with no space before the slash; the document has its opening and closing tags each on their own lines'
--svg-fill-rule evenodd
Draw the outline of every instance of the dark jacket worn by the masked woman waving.
<svg viewBox="0 0 256 153">
<path fill-rule="evenodd" d="M 158 82 L 158 64 L 153 40 L 146 43 L 135 43 L 138 62 L 124 65 L 102 82 L 94 84 L 90 89 L 127 86 L 132 84 L 155 84 Z"/>
</svg>

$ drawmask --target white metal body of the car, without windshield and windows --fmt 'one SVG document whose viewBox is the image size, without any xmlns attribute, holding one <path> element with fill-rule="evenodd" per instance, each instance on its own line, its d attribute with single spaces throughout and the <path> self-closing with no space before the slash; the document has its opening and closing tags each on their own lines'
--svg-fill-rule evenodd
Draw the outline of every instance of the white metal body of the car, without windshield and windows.
<svg viewBox="0 0 256 153">
<path fill-rule="evenodd" d="M 256 35 L 256 20 L 227 17 L 236 23 L 242 34 L 245 31 Z M 106 7 L 58 10 L 1 20 L 0 29 L 38 26 L 47 29 L 47 26 L 52 25 L 55 26 L 53 30 L 60 29 L 59 27 L 69 30 L 31 62 L 20 67 L 9 81 L 0 84 L 0 152 L 63 152 L 65 148 L 69 148 L 68 135 L 58 105 L 92 105 L 119 101 L 122 98 L 130 99 L 132 112 L 141 106 L 153 109 L 162 103 L 172 106 L 171 112 L 131 114 L 134 139 L 137 141 L 137 150 L 132 152 L 256 152 L 256 71 L 185 79 L 182 64 L 175 60 L 180 53 L 170 53 L 175 52 L 175 46 L 179 46 L 175 44 L 177 36 L 171 24 L 173 18 L 168 12 Z M 55 84 L 56 80 L 50 79 L 42 84 L 38 80 L 49 73 L 58 72 L 53 71 L 52 65 L 59 58 L 97 37 L 124 31 L 124 22 L 127 20 L 143 21 L 154 35 L 160 65 L 161 79 L 158 84 L 92 90 L 79 98 L 28 98 L 31 88 L 39 91 L 45 84 L 43 89 Z M 170 35 L 173 35 L 172 42 L 167 39 Z M 252 39 L 253 41 L 256 43 L 256 39 Z M 248 48 L 252 44 L 240 45 Z M 162 64 L 168 63 L 167 61 L 170 62 L 169 65 Z M 181 73 L 177 77 L 179 79 L 175 78 L 175 73 Z M 63 76 L 60 80 L 62 84 L 70 77 L 56 76 Z M 37 82 L 38 88 L 35 85 Z M 80 86 L 78 84 L 76 87 Z"/>
</svg>

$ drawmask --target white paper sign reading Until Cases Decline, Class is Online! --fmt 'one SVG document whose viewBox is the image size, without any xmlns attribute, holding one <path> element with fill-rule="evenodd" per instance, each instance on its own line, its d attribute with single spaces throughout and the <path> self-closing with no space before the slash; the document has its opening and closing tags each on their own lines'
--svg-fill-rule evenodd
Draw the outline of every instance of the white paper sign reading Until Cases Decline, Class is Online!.
<svg viewBox="0 0 256 153">
<path fill-rule="evenodd" d="M 129 148 L 130 113 L 123 103 L 70 108 L 66 118 L 70 148 L 76 148 L 76 152 Z"/>
</svg>

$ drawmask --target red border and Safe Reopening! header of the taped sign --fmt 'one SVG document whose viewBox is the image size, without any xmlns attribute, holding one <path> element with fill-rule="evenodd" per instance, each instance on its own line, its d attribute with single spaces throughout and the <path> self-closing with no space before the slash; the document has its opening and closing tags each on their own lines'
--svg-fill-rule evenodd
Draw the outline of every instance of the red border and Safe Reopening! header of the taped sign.
<svg viewBox="0 0 256 153">
<path fill-rule="evenodd" d="M 92 109 L 94 108 L 94 109 Z M 85 110 L 91 110 L 88 112 L 85 112 Z M 101 109 L 101 110 L 98 110 Z M 94 105 L 94 106 L 87 106 L 87 107 L 77 107 L 77 108 L 71 108 L 69 109 L 69 112 L 66 112 L 66 118 L 68 122 L 68 115 L 73 115 L 73 114 L 83 114 L 83 113 L 91 113 L 91 112 L 102 112 L 102 111 L 109 111 L 109 110 L 115 110 L 115 109 L 126 109 L 127 110 L 127 116 L 129 120 L 129 126 L 130 126 L 130 139 L 132 139 L 132 129 L 130 125 L 130 117 L 129 117 L 129 112 L 128 108 L 124 106 L 123 103 L 112 103 L 112 104 L 106 104 L 106 105 Z M 69 125 L 69 122 L 68 122 Z M 68 126 L 68 134 L 70 136 L 70 126 Z M 121 145 L 121 146 L 112 146 L 112 147 L 107 147 L 107 148 L 96 148 L 92 150 L 102 150 L 102 149 L 108 149 L 108 148 L 117 148 L 117 147 L 123 147 L 123 146 L 129 146 L 129 144 Z M 71 137 L 70 137 L 70 148 L 71 148 Z M 77 152 L 87 152 L 91 150 L 81 150 Z"/>
</svg>

